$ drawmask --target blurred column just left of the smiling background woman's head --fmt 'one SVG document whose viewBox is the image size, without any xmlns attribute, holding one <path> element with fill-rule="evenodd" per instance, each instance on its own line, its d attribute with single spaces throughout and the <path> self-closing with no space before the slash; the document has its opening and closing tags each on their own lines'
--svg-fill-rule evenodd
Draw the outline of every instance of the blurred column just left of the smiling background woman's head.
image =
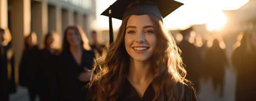
<svg viewBox="0 0 256 101">
<path fill-rule="evenodd" d="M 59 5 L 57 6 L 48 6 L 48 31 L 55 31 L 59 40 L 57 48 L 61 48 L 62 46 L 62 9 Z"/>
</svg>

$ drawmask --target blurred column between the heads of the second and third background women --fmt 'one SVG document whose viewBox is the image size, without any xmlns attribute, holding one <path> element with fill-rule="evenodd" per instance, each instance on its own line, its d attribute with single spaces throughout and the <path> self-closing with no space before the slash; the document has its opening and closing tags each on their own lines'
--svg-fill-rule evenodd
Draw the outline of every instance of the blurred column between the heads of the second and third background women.
<svg viewBox="0 0 256 101">
<path fill-rule="evenodd" d="M 31 5 L 32 26 L 31 29 L 37 34 L 37 45 L 41 46 L 42 39 L 48 32 L 48 4 L 47 1 L 33 1 Z"/>
</svg>

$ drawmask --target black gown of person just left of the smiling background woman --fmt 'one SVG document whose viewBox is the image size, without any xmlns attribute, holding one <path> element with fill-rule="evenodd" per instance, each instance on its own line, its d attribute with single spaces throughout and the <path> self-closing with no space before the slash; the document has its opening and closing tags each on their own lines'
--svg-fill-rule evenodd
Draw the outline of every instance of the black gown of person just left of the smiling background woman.
<svg viewBox="0 0 256 101">
<path fill-rule="evenodd" d="M 39 66 L 39 98 L 40 101 L 56 101 L 56 51 L 50 53 L 48 49 L 40 51 Z"/>
</svg>

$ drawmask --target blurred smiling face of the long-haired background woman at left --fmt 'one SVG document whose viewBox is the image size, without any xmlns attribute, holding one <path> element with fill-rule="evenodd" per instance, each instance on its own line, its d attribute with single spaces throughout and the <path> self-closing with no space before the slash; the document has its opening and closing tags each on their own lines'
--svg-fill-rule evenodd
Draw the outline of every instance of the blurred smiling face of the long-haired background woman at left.
<svg viewBox="0 0 256 101">
<path fill-rule="evenodd" d="M 79 46 L 81 43 L 80 35 L 76 32 L 75 29 L 68 29 L 66 38 L 70 46 Z"/>
</svg>

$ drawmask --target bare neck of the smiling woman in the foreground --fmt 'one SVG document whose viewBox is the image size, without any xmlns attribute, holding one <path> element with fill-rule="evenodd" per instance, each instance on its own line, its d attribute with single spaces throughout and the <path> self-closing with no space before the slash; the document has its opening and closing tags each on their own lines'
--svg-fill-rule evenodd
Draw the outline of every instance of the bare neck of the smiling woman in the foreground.
<svg viewBox="0 0 256 101">
<path fill-rule="evenodd" d="M 154 72 L 150 59 L 146 61 L 136 61 L 130 57 L 129 72 L 127 74 L 127 79 L 130 82 L 143 84 L 145 82 L 151 82 L 153 77 Z"/>
</svg>

